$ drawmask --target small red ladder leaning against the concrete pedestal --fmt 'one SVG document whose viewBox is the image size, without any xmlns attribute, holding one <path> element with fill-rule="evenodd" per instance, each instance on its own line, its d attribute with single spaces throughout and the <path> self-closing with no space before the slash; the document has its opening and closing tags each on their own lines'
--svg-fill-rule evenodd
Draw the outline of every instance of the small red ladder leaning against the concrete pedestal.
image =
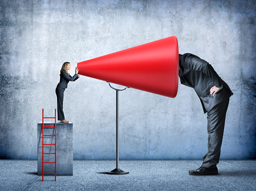
<svg viewBox="0 0 256 191">
<path fill-rule="evenodd" d="M 44 126 L 44 119 L 55 119 L 55 126 Z M 54 135 L 44 135 L 44 127 L 54 127 L 55 134 Z M 55 137 L 55 144 L 44 144 L 44 137 L 45 136 L 54 136 Z M 44 109 L 43 109 L 43 122 L 42 122 L 42 181 L 44 181 L 44 172 L 55 172 L 55 181 L 56 181 L 56 109 L 55 109 L 55 117 L 49 118 L 44 117 Z M 55 152 L 54 153 L 44 153 L 44 145 L 55 145 Z M 44 162 L 44 154 L 54 154 L 55 155 L 55 161 L 54 162 Z M 55 164 L 55 170 L 54 171 L 44 171 L 44 163 L 54 163 Z"/>
</svg>

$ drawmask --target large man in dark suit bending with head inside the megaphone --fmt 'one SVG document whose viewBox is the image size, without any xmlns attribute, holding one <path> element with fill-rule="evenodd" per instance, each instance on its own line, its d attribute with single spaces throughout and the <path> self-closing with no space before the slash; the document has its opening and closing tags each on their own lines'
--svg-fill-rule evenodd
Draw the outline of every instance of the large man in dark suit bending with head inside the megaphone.
<svg viewBox="0 0 256 191">
<path fill-rule="evenodd" d="M 179 77 L 181 84 L 195 89 L 207 112 L 208 152 L 201 167 L 189 170 L 189 174 L 218 175 L 226 112 L 233 92 L 208 62 L 193 54 L 179 54 Z"/>
</svg>

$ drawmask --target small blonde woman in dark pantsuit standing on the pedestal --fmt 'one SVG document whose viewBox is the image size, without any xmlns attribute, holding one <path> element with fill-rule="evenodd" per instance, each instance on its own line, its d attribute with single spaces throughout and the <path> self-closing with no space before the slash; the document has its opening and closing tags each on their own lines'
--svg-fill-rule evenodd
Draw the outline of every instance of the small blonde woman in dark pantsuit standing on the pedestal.
<svg viewBox="0 0 256 191">
<path fill-rule="evenodd" d="M 68 73 L 68 70 L 70 70 L 71 65 L 69 62 L 64 62 L 61 70 L 60 70 L 60 82 L 56 87 L 56 95 L 57 95 L 57 108 L 58 108 L 58 120 L 61 121 L 62 123 L 68 123 L 64 117 L 63 113 L 63 96 L 64 96 L 64 91 L 68 87 L 68 82 L 69 81 L 76 81 L 79 78 L 78 69 L 76 68 L 76 73 L 73 77 L 70 76 Z"/>
</svg>

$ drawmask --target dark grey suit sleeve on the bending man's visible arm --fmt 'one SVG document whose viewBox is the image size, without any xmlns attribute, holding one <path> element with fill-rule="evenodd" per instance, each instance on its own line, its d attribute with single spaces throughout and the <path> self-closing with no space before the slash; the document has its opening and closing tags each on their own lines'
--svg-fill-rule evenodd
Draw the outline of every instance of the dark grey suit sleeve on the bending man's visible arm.
<svg viewBox="0 0 256 191">
<path fill-rule="evenodd" d="M 211 79 L 211 81 L 217 88 L 221 89 L 223 87 L 221 78 L 219 77 L 217 72 L 215 72 L 211 64 L 209 64 L 205 60 L 202 60 L 199 57 L 192 57 L 189 62 L 189 67 L 192 70 L 201 71 L 206 74 L 206 76 Z"/>
</svg>

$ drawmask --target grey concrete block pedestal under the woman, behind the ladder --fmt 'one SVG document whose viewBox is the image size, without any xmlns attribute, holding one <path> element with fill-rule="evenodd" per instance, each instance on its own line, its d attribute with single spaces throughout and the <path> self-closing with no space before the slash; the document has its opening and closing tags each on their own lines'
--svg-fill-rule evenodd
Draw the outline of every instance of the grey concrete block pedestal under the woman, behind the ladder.
<svg viewBox="0 0 256 191">
<path fill-rule="evenodd" d="M 44 122 L 54 126 L 54 122 Z M 44 135 L 54 135 L 54 128 L 44 128 Z M 56 122 L 56 175 L 73 175 L 73 123 Z M 44 137 L 44 144 L 54 144 L 55 137 Z M 44 145 L 44 153 L 54 153 L 54 145 Z M 54 154 L 44 154 L 44 162 L 54 162 Z M 54 163 L 44 163 L 44 171 L 54 171 Z M 42 122 L 37 123 L 37 175 L 42 175 Z M 54 172 L 44 172 L 54 175 Z"/>
</svg>

